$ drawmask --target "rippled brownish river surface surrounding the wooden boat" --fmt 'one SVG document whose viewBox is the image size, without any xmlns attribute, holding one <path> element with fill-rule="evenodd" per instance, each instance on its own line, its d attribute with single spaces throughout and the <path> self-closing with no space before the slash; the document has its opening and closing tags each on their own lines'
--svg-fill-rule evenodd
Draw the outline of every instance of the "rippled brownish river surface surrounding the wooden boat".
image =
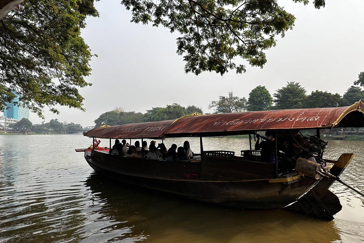
<svg viewBox="0 0 364 243">
<path fill-rule="evenodd" d="M 198 152 L 198 138 L 189 141 Z M 245 138 L 203 142 L 205 150 L 236 154 L 249 147 Z M 343 209 L 330 222 L 283 209 L 223 208 L 104 179 L 74 150 L 90 144 L 80 135 L 0 136 L 0 242 L 364 242 L 364 198 L 337 182 L 331 190 Z M 363 141 L 329 141 L 325 153 L 356 154 L 341 179 L 361 191 L 363 148 Z"/>
</svg>

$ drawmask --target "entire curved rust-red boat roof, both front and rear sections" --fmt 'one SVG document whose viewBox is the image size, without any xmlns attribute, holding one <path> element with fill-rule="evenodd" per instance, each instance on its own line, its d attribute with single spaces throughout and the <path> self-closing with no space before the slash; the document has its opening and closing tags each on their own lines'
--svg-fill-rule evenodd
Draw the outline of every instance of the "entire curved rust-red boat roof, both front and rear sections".
<svg viewBox="0 0 364 243">
<path fill-rule="evenodd" d="M 269 129 L 323 129 L 363 127 L 364 103 L 314 109 L 266 110 L 201 115 L 194 113 L 177 120 L 105 126 L 85 136 L 98 138 L 153 138 L 225 136 Z"/>
</svg>

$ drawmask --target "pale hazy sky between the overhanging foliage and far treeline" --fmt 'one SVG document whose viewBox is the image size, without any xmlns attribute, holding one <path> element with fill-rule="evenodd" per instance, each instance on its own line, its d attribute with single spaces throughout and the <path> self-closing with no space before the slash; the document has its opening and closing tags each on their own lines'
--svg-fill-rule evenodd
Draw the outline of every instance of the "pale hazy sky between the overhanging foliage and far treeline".
<svg viewBox="0 0 364 243">
<path fill-rule="evenodd" d="M 323 90 L 343 94 L 364 71 L 364 1 L 329 0 L 315 9 L 291 0 L 279 3 L 296 16 L 293 30 L 266 51 L 264 68 L 247 66 L 245 74 L 230 71 L 223 77 L 204 72 L 185 74 L 176 54 L 178 33 L 163 27 L 130 23 L 131 14 L 119 1 L 97 2 L 99 18 L 89 17 L 82 36 L 97 58 L 91 61 L 91 87 L 80 89 L 86 112 L 60 107 L 55 115 L 45 110 L 46 121 L 58 118 L 93 126 L 100 114 L 122 106 L 140 111 L 171 103 L 207 106 L 229 91 L 248 98 L 257 85 L 273 94 L 287 81 L 300 82 L 307 93 Z M 236 60 L 236 63 L 242 63 Z M 211 111 L 210 111 L 211 112 Z M 42 120 L 31 114 L 33 123 Z"/>
</svg>

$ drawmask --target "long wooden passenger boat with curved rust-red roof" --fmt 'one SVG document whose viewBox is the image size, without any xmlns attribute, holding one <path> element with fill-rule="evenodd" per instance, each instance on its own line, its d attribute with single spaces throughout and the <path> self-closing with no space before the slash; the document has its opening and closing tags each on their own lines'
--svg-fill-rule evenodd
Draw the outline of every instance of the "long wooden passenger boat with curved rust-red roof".
<svg viewBox="0 0 364 243">
<path fill-rule="evenodd" d="M 194 136 L 200 138 L 201 154 L 190 160 L 159 161 L 148 160 L 145 156 L 116 156 L 109 154 L 107 148 L 94 148 L 85 150 L 85 158 L 96 172 L 122 183 L 224 206 L 253 209 L 285 207 L 332 220 L 333 215 L 341 210 L 341 204 L 328 188 L 347 167 L 353 154 L 342 154 L 338 160 L 322 159 L 324 146 L 321 150 L 317 149 L 326 143 L 320 139 L 320 129 L 363 127 L 363 114 L 364 103 L 359 101 L 347 107 L 212 115 L 195 113 L 175 121 L 107 126 L 92 129 L 84 135 L 108 138 L 110 147 L 114 138 L 163 141 L 168 137 Z M 306 138 L 297 133 L 304 129 L 314 129 L 316 135 Z M 274 164 L 261 161 L 259 152 L 252 149 L 253 135 L 266 130 L 276 134 Z M 250 137 L 250 149 L 242 150 L 240 156 L 226 150 L 203 150 L 203 137 L 237 134 L 249 134 Z M 303 139 L 303 144 L 292 134 Z M 314 162 L 300 158 L 300 154 L 288 163 L 291 166 L 284 165 L 285 156 L 289 153 L 284 152 L 282 144 L 287 140 L 300 150 L 304 150 L 307 144 L 312 145 L 318 166 L 310 167 Z M 318 167 L 326 168 L 332 177 L 317 172 Z"/>
</svg>

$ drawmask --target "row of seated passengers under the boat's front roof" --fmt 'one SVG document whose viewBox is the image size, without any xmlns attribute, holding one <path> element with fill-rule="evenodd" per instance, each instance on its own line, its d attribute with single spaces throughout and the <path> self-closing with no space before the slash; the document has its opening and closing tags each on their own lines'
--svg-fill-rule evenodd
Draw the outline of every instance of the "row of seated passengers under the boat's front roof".
<svg viewBox="0 0 364 243">
<path fill-rule="evenodd" d="M 139 141 L 135 141 L 134 145 L 130 145 L 123 139 L 120 143 L 118 139 L 115 139 L 115 144 L 110 149 L 109 153 L 114 155 L 126 155 L 126 157 L 142 158 L 143 153 L 147 155 L 150 160 L 189 160 L 194 153 L 190 148 L 189 141 L 183 143 L 183 147 L 177 148 L 176 144 L 172 144 L 167 150 L 166 145 L 161 143 L 156 146 L 156 141 L 151 141 L 148 147 L 147 141 L 142 142 L 140 146 Z M 176 151 L 177 150 L 177 151 Z"/>
</svg>

